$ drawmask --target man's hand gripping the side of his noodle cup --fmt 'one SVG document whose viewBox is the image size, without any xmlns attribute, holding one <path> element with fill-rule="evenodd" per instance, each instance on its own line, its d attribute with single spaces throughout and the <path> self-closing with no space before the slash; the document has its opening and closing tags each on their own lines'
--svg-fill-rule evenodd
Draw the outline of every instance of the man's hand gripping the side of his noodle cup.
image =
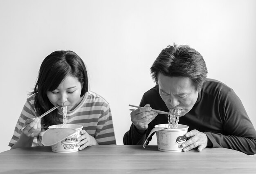
<svg viewBox="0 0 256 174">
<path fill-rule="evenodd" d="M 185 134 L 187 138 L 190 137 L 189 140 L 185 141 L 182 144 L 183 151 L 189 151 L 193 148 L 198 148 L 198 152 L 201 152 L 207 146 L 208 138 L 206 134 L 203 132 L 199 132 L 198 130 L 191 130 Z"/>
</svg>

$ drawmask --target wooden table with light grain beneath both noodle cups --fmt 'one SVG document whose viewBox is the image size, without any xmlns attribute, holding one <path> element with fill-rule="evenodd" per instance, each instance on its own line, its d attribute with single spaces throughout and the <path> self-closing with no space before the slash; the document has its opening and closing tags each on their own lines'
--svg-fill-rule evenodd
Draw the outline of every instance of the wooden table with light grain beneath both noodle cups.
<svg viewBox="0 0 256 174">
<path fill-rule="evenodd" d="M 256 159 L 236 150 L 206 148 L 202 152 L 161 152 L 149 145 L 95 145 L 79 152 L 55 153 L 30 147 L 0 153 L 0 173 L 256 173 Z"/>
</svg>

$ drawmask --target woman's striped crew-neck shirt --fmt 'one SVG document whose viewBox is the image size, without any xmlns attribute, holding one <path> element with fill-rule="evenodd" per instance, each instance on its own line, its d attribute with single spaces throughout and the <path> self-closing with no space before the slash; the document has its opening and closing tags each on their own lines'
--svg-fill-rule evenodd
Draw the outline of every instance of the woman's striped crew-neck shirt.
<svg viewBox="0 0 256 174">
<path fill-rule="evenodd" d="M 20 129 L 24 126 L 27 119 L 39 117 L 34 106 L 34 98 L 35 95 L 27 98 L 9 146 L 13 146 L 18 141 L 22 132 Z M 57 117 L 60 124 L 62 124 L 63 112 L 61 108 L 58 108 Z M 99 145 L 116 144 L 110 106 L 103 97 L 92 91 L 86 93 L 81 103 L 74 110 L 67 112 L 67 123 L 83 126 L 83 129 L 94 137 Z M 34 137 L 32 146 L 43 146 L 41 141 L 45 131 L 42 126 L 39 136 Z"/>
</svg>

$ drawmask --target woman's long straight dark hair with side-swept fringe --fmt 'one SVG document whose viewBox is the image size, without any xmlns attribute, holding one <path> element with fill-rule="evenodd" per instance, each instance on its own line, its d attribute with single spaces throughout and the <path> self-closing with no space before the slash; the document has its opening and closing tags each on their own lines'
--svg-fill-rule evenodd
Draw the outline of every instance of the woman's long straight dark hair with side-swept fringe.
<svg viewBox="0 0 256 174">
<path fill-rule="evenodd" d="M 54 51 L 43 60 L 34 91 L 35 108 L 38 115 L 42 115 L 54 107 L 47 97 L 47 91 L 55 90 L 61 82 L 71 75 L 76 77 L 82 85 L 81 97 L 88 92 L 88 75 L 83 60 L 73 51 Z M 45 129 L 54 124 L 60 124 L 56 117 L 57 110 L 42 118 Z"/>
</svg>

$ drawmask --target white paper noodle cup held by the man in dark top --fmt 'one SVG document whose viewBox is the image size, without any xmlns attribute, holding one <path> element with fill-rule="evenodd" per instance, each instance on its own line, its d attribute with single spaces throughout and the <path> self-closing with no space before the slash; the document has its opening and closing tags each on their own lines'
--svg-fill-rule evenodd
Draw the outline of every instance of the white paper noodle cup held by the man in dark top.
<svg viewBox="0 0 256 174">
<path fill-rule="evenodd" d="M 158 124 L 155 127 L 166 127 L 168 124 Z M 186 132 L 189 126 L 178 124 L 177 129 L 162 129 L 156 132 L 157 134 L 157 148 L 164 152 L 181 152 L 182 143 L 186 141 Z"/>
</svg>

